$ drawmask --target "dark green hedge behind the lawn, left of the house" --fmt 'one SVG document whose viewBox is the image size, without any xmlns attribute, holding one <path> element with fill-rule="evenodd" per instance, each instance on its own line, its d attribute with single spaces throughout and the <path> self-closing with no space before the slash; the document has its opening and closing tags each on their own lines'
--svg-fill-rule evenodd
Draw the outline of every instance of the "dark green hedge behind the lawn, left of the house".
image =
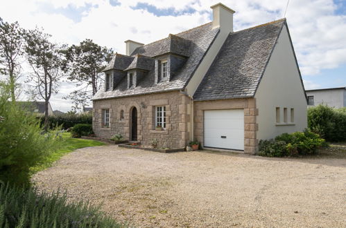
<svg viewBox="0 0 346 228">
<path fill-rule="evenodd" d="M 41 124 L 44 124 L 44 117 L 40 118 Z M 50 128 L 59 126 L 62 129 L 70 129 L 76 124 L 92 124 L 92 113 L 66 113 L 62 115 L 49 115 L 48 117 Z"/>
</svg>

